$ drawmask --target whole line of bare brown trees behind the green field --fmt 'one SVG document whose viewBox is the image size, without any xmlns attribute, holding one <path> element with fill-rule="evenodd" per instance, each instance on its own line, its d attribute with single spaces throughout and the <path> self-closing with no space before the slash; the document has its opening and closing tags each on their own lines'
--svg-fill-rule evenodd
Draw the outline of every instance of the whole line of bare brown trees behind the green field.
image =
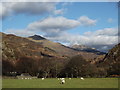
<svg viewBox="0 0 120 90">
<path fill-rule="evenodd" d="M 112 71 L 113 69 L 114 68 L 110 68 Z M 38 78 L 106 77 L 110 76 L 109 72 L 112 72 L 104 69 L 102 66 L 91 64 L 81 55 L 74 56 L 69 59 L 43 57 L 40 60 L 34 60 L 29 57 L 21 57 L 16 64 L 3 60 L 2 70 L 2 74 L 5 76 L 16 76 L 22 73 L 29 73 L 31 76 L 38 76 Z M 17 73 L 11 74 L 10 72 Z"/>
</svg>

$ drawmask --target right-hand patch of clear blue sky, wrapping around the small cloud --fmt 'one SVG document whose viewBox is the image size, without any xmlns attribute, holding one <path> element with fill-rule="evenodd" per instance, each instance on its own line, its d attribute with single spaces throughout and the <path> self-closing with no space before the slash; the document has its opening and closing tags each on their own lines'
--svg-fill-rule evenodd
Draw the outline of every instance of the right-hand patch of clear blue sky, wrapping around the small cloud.
<svg viewBox="0 0 120 90">
<path fill-rule="evenodd" d="M 79 8 L 79 9 L 78 9 Z M 78 9 L 78 10 L 77 10 Z M 74 11 L 74 13 L 73 13 Z M 71 14 L 72 13 L 72 14 Z M 83 33 L 88 30 L 94 31 L 106 27 L 117 27 L 117 7 L 116 3 L 76 3 L 69 7 L 69 11 L 64 16 L 68 18 L 79 18 L 80 16 L 88 16 L 91 19 L 97 19 L 96 26 L 79 27 L 77 33 Z M 70 16 L 69 16 L 70 14 Z M 114 19 L 113 23 L 108 23 L 108 19 Z M 82 30 L 81 30 L 82 29 Z M 77 31 L 77 30 L 76 30 Z M 72 32 L 73 33 L 73 32 Z"/>
</svg>

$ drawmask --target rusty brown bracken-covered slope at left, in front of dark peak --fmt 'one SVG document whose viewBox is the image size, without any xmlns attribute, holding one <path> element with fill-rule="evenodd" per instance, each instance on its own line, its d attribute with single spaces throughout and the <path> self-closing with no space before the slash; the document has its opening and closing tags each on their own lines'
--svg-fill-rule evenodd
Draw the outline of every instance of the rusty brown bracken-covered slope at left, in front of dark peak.
<svg viewBox="0 0 120 90">
<path fill-rule="evenodd" d="M 59 57 L 59 55 L 41 44 L 12 34 L 2 34 L 2 58 L 16 61 L 20 57 L 41 59 L 42 57 Z"/>
</svg>

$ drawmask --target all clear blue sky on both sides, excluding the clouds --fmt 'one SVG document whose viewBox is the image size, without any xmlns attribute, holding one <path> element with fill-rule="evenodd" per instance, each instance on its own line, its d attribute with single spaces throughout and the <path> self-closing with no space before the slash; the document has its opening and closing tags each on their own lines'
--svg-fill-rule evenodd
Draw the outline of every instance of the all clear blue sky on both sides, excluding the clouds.
<svg viewBox="0 0 120 90">
<path fill-rule="evenodd" d="M 56 5 L 57 9 L 62 7 L 63 3 L 59 3 Z M 78 27 L 76 28 L 75 33 L 84 33 L 85 31 L 94 31 L 106 27 L 117 27 L 118 23 L 118 8 L 116 2 L 74 2 L 70 3 L 70 5 L 64 6 L 66 8 L 66 12 L 62 15 L 69 19 L 78 19 L 80 16 L 88 16 L 92 19 L 97 19 L 97 25 L 92 27 Z M 22 29 L 25 28 L 29 23 L 39 20 L 41 18 L 47 17 L 50 14 L 44 15 L 11 15 L 3 20 L 3 31 L 6 29 Z M 56 15 L 61 16 L 61 15 Z M 108 19 L 113 19 L 112 23 L 108 23 Z M 82 30 L 81 30 L 82 29 Z M 74 33 L 74 30 L 70 31 Z"/>
</svg>

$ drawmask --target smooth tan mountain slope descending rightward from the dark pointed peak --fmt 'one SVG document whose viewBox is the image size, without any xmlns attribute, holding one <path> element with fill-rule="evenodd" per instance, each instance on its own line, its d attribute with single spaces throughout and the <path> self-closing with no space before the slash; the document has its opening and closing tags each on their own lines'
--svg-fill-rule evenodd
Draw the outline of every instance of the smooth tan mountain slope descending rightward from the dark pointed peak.
<svg viewBox="0 0 120 90">
<path fill-rule="evenodd" d="M 34 36 L 36 37 L 36 35 L 34 35 Z M 41 36 L 37 36 L 36 37 L 37 40 L 36 40 L 33 38 L 34 36 L 28 37 L 27 39 L 31 40 L 35 43 L 41 44 L 44 48 L 50 49 L 50 50 L 58 53 L 62 57 L 73 57 L 76 55 L 82 55 L 87 60 L 93 60 L 94 58 L 99 56 L 96 53 L 87 52 L 87 51 L 86 52 L 79 51 L 79 50 L 76 50 L 74 48 L 64 46 L 60 43 L 52 42 L 52 41 L 45 39 L 45 38 L 39 39 L 39 37 L 41 38 Z"/>
</svg>

